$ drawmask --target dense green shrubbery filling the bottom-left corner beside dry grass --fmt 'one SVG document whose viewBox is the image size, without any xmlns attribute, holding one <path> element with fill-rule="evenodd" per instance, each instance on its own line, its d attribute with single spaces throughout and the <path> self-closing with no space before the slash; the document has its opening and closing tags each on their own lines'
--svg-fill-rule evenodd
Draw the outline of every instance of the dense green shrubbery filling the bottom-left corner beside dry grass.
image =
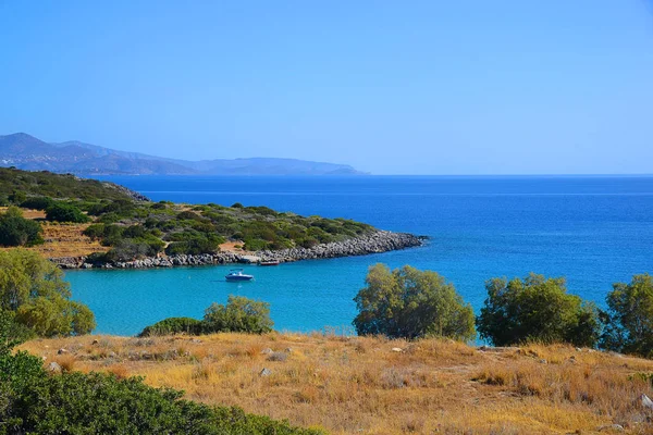
<svg viewBox="0 0 653 435">
<path fill-rule="evenodd" d="M 1 435 L 322 433 L 182 396 L 174 389 L 147 386 L 141 377 L 121 381 L 112 374 L 81 372 L 50 375 L 39 358 L 0 349 Z"/>
</svg>

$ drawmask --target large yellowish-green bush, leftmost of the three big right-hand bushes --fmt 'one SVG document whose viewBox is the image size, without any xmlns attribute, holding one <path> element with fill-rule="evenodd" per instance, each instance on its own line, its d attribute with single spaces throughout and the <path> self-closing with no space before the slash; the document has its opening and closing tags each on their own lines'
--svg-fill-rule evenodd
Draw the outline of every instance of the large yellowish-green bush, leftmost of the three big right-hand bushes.
<svg viewBox="0 0 653 435">
<path fill-rule="evenodd" d="M 471 307 L 435 272 L 408 265 L 391 272 L 385 264 L 375 264 L 354 300 L 359 311 L 354 326 L 360 335 L 458 340 L 476 336 Z"/>
</svg>

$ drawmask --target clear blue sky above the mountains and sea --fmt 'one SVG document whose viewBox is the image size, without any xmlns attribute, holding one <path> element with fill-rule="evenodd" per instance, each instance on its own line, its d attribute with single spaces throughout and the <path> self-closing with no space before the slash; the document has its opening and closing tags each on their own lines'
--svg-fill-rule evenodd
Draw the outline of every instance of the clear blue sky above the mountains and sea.
<svg viewBox="0 0 653 435">
<path fill-rule="evenodd" d="M 172 158 L 653 173 L 653 1 L 0 0 L 0 101 Z"/>
</svg>

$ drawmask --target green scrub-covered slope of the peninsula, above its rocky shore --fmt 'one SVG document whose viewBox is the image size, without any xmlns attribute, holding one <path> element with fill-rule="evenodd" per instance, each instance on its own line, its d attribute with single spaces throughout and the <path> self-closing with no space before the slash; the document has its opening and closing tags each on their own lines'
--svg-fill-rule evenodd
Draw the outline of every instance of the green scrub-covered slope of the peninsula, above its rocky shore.
<svg viewBox="0 0 653 435">
<path fill-rule="evenodd" d="M 249 251 L 309 248 L 374 231 L 350 220 L 306 217 L 267 207 L 150 202 L 109 183 L 10 169 L 0 169 L 2 203 L 45 210 L 41 219 L 50 221 L 61 220 L 51 212 L 59 207 L 66 215 L 76 216 L 75 223 L 90 223 L 77 225 L 77 235 L 69 238 L 107 247 L 108 253 L 96 247 L 72 250 L 79 256 L 96 252 L 98 261 L 127 261 L 163 250 L 169 254 L 210 253 L 229 241 Z M 56 237 L 45 234 L 45 238 Z"/>
</svg>

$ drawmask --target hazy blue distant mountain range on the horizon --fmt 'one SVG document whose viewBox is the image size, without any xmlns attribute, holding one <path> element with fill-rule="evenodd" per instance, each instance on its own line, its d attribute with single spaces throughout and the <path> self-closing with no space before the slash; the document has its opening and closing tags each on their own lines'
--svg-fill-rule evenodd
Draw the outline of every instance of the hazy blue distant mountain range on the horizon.
<svg viewBox="0 0 653 435">
<path fill-rule="evenodd" d="M 354 175 L 345 164 L 295 159 L 187 161 L 126 152 L 76 140 L 48 144 L 25 133 L 0 136 L 0 166 L 81 175 Z"/>
</svg>

